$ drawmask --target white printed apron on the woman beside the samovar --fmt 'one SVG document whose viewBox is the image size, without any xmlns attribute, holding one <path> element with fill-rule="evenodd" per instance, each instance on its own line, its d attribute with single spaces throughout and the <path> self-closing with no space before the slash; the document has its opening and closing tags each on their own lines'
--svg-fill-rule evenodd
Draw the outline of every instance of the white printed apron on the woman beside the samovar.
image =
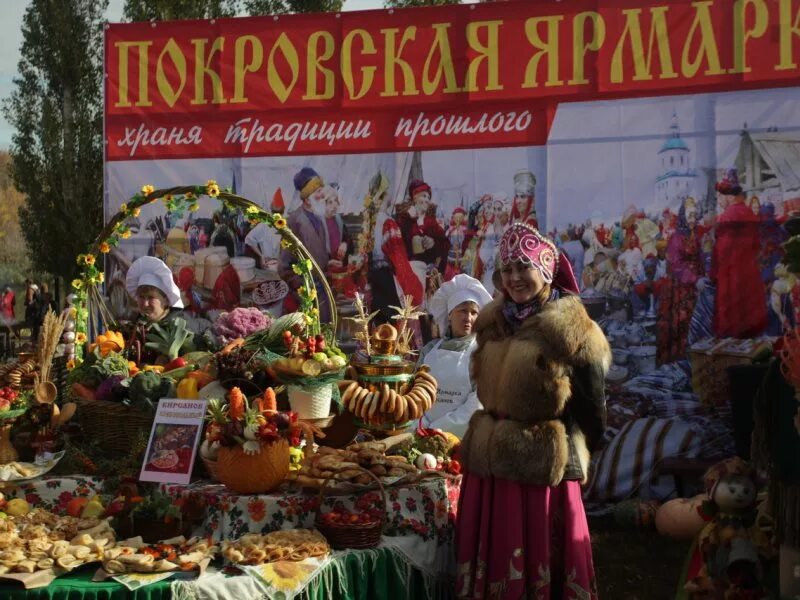
<svg viewBox="0 0 800 600">
<path fill-rule="evenodd" d="M 473 350 L 475 350 L 477 342 L 473 340 L 469 347 L 461 352 L 442 350 L 439 348 L 441 344 L 442 340 L 439 340 L 425 356 L 425 364 L 431 368 L 431 375 L 436 378 L 439 386 L 436 402 L 422 417 L 423 427 L 436 427 L 436 422 L 442 417 L 457 411 L 466 404 L 472 392 L 472 384 L 469 379 L 469 359 Z M 464 421 L 463 425 L 466 430 L 466 425 L 471 416 L 471 412 L 468 415 L 460 415 L 459 418 L 455 419 L 457 423 L 454 424 L 461 425 L 461 421 Z M 449 421 L 449 419 L 446 421 Z M 447 426 L 443 426 L 441 429 L 450 431 Z M 455 431 L 453 433 L 458 435 Z"/>
</svg>

